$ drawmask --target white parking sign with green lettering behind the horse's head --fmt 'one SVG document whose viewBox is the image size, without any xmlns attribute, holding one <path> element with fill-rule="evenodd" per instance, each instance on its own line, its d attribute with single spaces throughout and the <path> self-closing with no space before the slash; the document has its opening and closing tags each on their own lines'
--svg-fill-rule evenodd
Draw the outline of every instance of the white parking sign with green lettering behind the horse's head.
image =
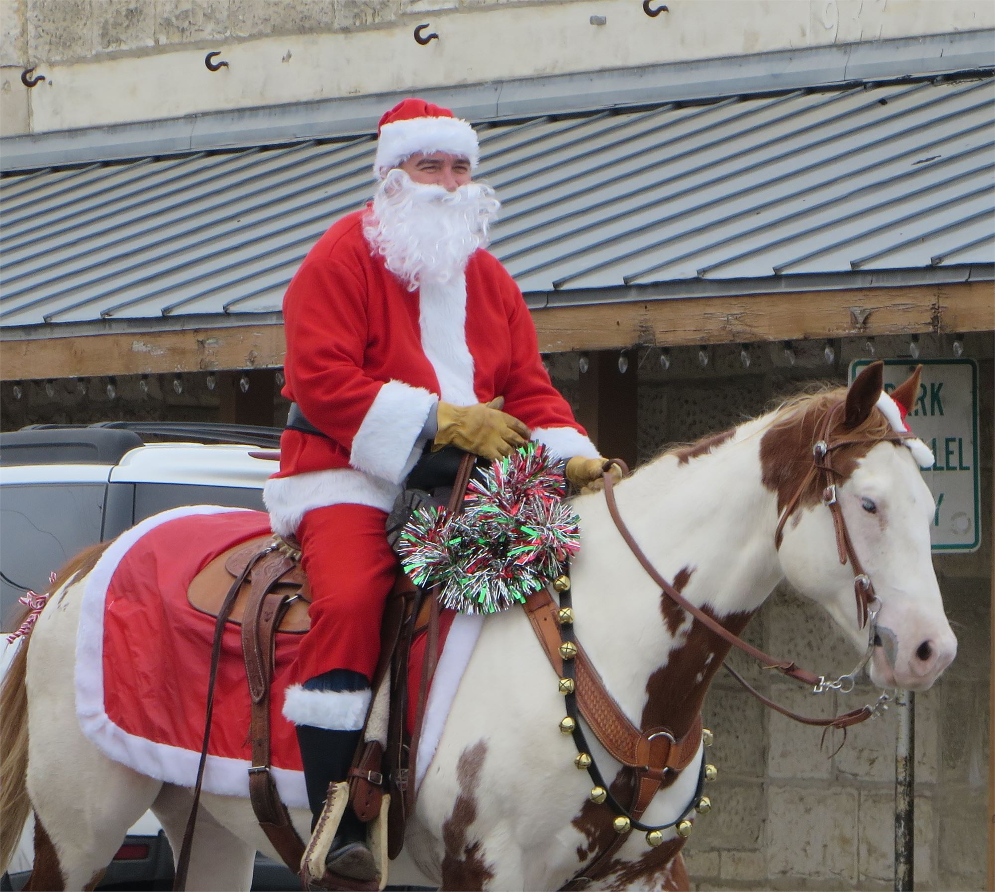
<svg viewBox="0 0 995 892">
<path fill-rule="evenodd" d="M 850 380 L 872 361 L 853 361 Z M 894 390 L 916 365 L 922 365 L 919 393 L 905 420 L 936 457 L 922 472 L 936 502 L 932 549 L 973 552 L 981 544 L 978 366 L 973 359 L 886 359 L 885 389 Z"/>
</svg>

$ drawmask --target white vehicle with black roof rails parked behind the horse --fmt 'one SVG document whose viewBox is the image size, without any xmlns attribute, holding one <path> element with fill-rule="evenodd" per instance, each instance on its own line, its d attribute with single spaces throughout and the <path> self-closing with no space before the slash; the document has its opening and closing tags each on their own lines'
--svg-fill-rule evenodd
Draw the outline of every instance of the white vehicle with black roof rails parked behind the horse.
<svg viewBox="0 0 995 892">
<path fill-rule="evenodd" d="M 245 425 L 107 422 L 38 425 L 0 434 L 0 669 L 18 598 L 86 546 L 180 505 L 263 510 L 281 431 Z M 152 439 L 180 442 L 150 442 Z M 0 888 L 27 882 L 31 821 Z M 151 812 L 128 831 L 100 889 L 170 889 L 173 858 Z M 283 864 L 257 855 L 254 889 L 299 889 Z"/>
</svg>

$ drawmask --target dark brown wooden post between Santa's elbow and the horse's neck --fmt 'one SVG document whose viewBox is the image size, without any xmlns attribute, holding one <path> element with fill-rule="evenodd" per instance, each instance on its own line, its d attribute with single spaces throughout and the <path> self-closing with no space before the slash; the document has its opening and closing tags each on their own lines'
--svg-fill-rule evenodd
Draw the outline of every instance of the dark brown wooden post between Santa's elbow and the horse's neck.
<svg viewBox="0 0 995 892">
<path fill-rule="evenodd" d="M 603 350 L 588 356 L 580 374 L 577 420 L 606 458 L 621 458 L 636 467 L 638 427 L 636 363 L 619 369 L 619 353 Z"/>
</svg>

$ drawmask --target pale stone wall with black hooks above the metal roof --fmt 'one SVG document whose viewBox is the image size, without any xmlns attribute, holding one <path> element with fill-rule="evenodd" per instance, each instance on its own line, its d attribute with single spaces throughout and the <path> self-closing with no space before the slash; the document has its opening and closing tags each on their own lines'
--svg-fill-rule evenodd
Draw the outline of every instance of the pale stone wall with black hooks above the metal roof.
<svg viewBox="0 0 995 892">
<path fill-rule="evenodd" d="M 638 0 L 0 0 L 0 134 L 995 25 L 987 0 L 667 6 L 649 18 Z M 421 23 L 439 40 L 416 44 Z M 229 67 L 207 71 L 208 50 Z M 28 66 L 46 81 L 25 88 Z"/>
</svg>

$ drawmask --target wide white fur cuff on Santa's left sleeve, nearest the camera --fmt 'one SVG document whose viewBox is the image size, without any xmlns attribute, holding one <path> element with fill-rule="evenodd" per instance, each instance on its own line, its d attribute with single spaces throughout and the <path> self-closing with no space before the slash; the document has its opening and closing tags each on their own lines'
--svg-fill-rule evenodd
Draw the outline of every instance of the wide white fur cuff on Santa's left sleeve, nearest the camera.
<svg viewBox="0 0 995 892">
<path fill-rule="evenodd" d="M 404 381 L 387 381 L 352 438 L 349 464 L 389 483 L 400 483 L 414 467 L 412 452 L 436 395 Z"/>
</svg>

